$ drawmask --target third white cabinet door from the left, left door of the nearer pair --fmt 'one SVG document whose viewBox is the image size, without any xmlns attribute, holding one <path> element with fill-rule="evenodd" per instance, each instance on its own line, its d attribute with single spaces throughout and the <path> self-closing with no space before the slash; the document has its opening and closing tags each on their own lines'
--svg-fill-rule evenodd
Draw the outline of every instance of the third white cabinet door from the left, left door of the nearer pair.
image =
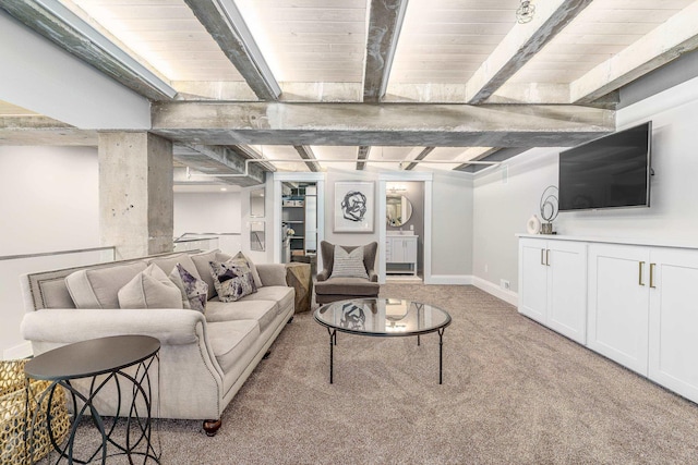
<svg viewBox="0 0 698 465">
<path fill-rule="evenodd" d="M 646 247 L 589 246 L 588 346 L 646 376 L 648 268 Z"/>
</svg>

